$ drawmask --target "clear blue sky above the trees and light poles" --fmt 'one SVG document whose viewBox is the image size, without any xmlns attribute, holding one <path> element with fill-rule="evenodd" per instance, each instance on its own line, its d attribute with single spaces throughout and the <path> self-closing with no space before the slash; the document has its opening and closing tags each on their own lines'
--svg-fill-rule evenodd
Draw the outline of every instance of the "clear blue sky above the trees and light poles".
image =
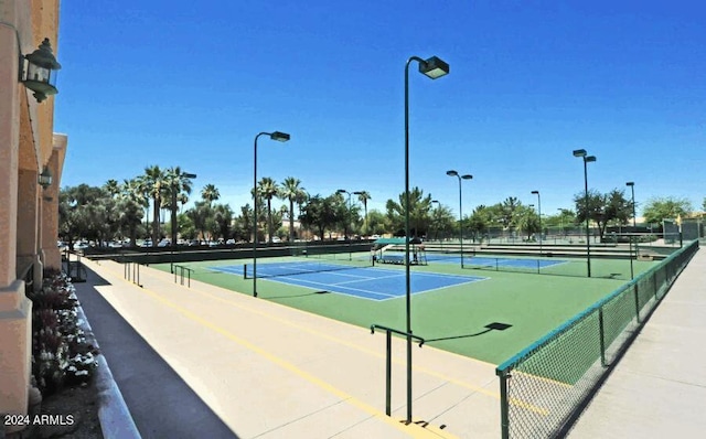
<svg viewBox="0 0 706 439">
<path fill-rule="evenodd" d="M 706 3 L 693 1 L 106 1 L 61 4 L 55 130 L 63 186 L 145 168 L 196 173 L 221 202 L 249 202 L 258 175 L 312 194 L 404 191 L 404 66 L 410 182 L 458 213 L 507 196 L 545 214 L 584 189 L 635 182 L 635 200 L 706 195 Z M 630 195 L 630 192 L 627 192 Z M 640 211 L 639 211 L 640 215 Z"/>
</svg>

